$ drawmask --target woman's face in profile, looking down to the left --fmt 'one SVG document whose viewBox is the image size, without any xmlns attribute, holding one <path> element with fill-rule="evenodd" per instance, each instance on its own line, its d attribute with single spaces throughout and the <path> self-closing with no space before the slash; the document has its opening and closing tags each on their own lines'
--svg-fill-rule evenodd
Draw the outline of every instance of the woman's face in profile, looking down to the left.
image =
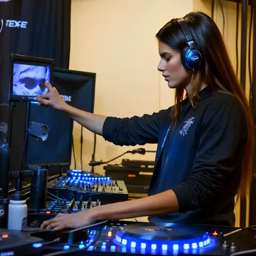
<svg viewBox="0 0 256 256">
<path fill-rule="evenodd" d="M 181 64 L 181 53 L 160 41 L 158 51 L 161 59 L 157 69 L 163 73 L 168 86 L 170 88 L 184 87 L 186 89 L 190 85 L 192 75 Z"/>
</svg>

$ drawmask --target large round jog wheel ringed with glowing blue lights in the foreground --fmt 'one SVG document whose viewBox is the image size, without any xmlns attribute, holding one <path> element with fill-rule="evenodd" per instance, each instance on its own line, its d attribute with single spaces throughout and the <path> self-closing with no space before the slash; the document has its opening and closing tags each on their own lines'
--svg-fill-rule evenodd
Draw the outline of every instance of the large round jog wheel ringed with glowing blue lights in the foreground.
<svg viewBox="0 0 256 256">
<path fill-rule="evenodd" d="M 196 226 L 167 223 L 142 223 L 120 227 L 114 243 L 139 251 L 159 251 L 161 254 L 173 251 L 209 250 L 215 244 L 208 233 Z"/>
</svg>

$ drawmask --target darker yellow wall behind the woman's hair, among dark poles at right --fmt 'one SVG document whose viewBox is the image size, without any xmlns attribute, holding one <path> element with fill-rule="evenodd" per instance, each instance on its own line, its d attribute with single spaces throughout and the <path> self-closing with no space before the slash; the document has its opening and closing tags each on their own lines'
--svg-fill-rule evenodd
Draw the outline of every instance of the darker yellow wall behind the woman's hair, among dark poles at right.
<svg viewBox="0 0 256 256">
<path fill-rule="evenodd" d="M 194 0 L 193 1 L 193 11 L 203 11 L 206 14 L 211 16 L 211 0 Z M 224 40 L 227 46 L 227 50 L 230 54 L 230 58 L 234 67 L 236 68 L 236 24 L 237 24 L 237 4 L 228 1 L 221 1 L 223 6 L 223 11 L 225 15 L 225 29 L 223 30 L 223 15 L 221 12 L 220 4 L 218 1 L 215 1 L 215 9 L 214 9 L 214 21 L 217 23 L 221 32 L 224 32 Z M 247 45 L 249 42 L 249 28 L 250 28 L 250 15 L 251 8 L 248 6 L 248 17 L 247 17 Z M 240 13 L 239 13 L 239 30 L 238 30 L 238 59 L 239 59 L 239 69 L 238 69 L 238 77 L 240 78 L 240 42 L 241 42 L 241 4 L 240 4 Z M 253 45 L 253 38 L 251 38 L 251 45 Z M 251 46 L 251 60 L 252 60 L 252 46 Z M 247 69 L 246 69 L 246 95 L 249 96 L 250 92 L 250 80 L 249 80 L 249 69 L 248 69 L 248 48 L 247 48 L 247 61 L 246 61 Z M 252 63 L 251 63 L 252 65 Z M 247 203 L 247 220 L 246 225 L 248 226 L 248 214 L 249 214 L 249 204 Z M 235 225 L 240 225 L 240 201 L 235 207 Z"/>
</svg>

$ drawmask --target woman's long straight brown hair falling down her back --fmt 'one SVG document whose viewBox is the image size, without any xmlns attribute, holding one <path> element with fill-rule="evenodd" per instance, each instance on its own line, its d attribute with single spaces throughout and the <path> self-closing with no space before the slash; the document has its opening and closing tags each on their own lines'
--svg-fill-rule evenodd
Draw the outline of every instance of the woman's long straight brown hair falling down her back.
<svg viewBox="0 0 256 256">
<path fill-rule="evenodd" d="M 196 108 L 199 100 L 199 90 L 205 83 L 212 92 L 225 92 L 236 97 L 245 113 L 247 123 L 247 142 L 245 145 L 244 158 L 238 196 L 248 193 L 252 180 L 254 128 L 251 110 L 242 90 L 237 76 L 235 75 L 230 57 L 226 50 L 223 37 L 213 19 L 203 12 L 191 12 L 185 17 L 191 34 L 203 55 L 203 65 L 193 72 L 191 80 L 191 104 Z M 172 49 L 182 51 L 187 45 L 185 37 L 180 29 L 177 19 L 172 19 L 159 30 L 156 37 L 160 42 L 169 45 Z M 186 97 L 183 87 L 176 89 L 175 108 L 172 115 L 173 122 L 177 122 L 181 110 L 181 102 Z"/>
</svg>

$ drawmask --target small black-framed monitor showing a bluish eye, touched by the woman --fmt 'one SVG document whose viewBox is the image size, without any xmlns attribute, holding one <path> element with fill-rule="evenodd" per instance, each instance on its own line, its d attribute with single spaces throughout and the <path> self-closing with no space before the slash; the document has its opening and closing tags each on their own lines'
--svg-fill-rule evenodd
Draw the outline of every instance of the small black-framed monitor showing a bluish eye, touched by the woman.
<svg viewBox="0 0 256 256">
<path fill-rule="evenodd" d="M 10 65 L 10 101 L 34 101 L 48 92 L 45 81 L 53 84 L 53 59 L 12 54 Z"/>
</svg>

